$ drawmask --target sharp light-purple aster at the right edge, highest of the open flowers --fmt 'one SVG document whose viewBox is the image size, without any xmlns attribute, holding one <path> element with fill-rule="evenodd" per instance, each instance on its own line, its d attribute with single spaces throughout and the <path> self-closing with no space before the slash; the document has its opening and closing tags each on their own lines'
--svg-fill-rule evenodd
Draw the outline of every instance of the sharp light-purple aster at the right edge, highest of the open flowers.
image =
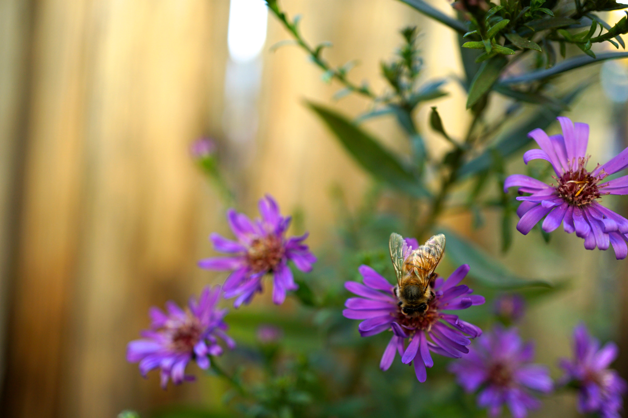
<svg viewBox="0 0 628 418">
<path fill-rule="evenodd" d="M 541 129 L 528 133 L 541 149 L 533 149 L 523 155 L 523 160 L 548 160 L 556 172 L 556 185 L 548 185 L 522 174 L 513 174 L 504 183 L 508 187 L 519 186 L 519 192 L 531 196 L 520 196 L 517 209 L 521 217 L 517 229 L 528 234 L 544 216 L 543 231 L 554 231 L 563 223 L 567 233 L 585 240 L 586 249 L 608 249 L 612 244 L 617 259 L 628 254 L 628 219 L 602 206 L 600 197 L 605 194 L 628 194 L 628 175 L 614 180 L 604 180 L 628 167 L 628 148 L 604 165 L 587 170 L 589 155 L 587 123 L 573 123 L 569 118 L 559 117 L 563 135 L 548 135 Z"/>
</svg>

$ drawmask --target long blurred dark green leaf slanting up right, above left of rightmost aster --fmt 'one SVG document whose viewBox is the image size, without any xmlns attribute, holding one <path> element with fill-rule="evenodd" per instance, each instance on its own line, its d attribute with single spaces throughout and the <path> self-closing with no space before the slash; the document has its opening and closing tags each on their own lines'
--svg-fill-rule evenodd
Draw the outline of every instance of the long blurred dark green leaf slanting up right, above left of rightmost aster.
<svg viewBox="0 0 628 418">
<path fill-rule="evenodd" d="M 575 99 L 578 94 L 584 90 L 588 85 L 578 86 L 575 90 L 571 91 L 568 95 L 561 98 L 561 102 L 568 105 Z M 521 150 L 528 145 L 531 139 L 528 137 L 528 132 L 535 128 L 545 129 L 550 123 L 556 122 L 556 117 L 560 115 L 561 111 L 556 108 L 548 108 L 546 106 L 538 108 L 526 122 L 517 127 L 509 130 L 508 132 L 500 135 L 492 149 L 496 149 L 500 152 L 502 157 L 508 157 L 511 154 Z M 465 175 L 475 174 L 490 168 L 492 164 L 492 150 L 485 150 L 482 154 L 473 160 L 470 160 L 458 170 L 458 177 Z"/>
</svg>

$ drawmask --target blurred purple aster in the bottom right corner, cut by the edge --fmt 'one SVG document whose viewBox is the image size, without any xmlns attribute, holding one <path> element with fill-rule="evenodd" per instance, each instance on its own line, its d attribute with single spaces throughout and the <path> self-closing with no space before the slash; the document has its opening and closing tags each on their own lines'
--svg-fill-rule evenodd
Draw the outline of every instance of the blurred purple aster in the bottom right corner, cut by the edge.
<svg viewBox="0 0 628 418">
<path fill-rule="evenodd" d="M 578 410 L 597 412 L 602 418 L 619 418 L 627 385 L 615 370 L 607 368 L 617 358 L 617 345 L 609 342 L 600 348 L 600 342 L 584 325 L 575 328 L 573 340 L 575 358 L 561 360 L 560 367 L 566 372 L 563 383 L 573 382 L 579 387 Z"/>
</svg>

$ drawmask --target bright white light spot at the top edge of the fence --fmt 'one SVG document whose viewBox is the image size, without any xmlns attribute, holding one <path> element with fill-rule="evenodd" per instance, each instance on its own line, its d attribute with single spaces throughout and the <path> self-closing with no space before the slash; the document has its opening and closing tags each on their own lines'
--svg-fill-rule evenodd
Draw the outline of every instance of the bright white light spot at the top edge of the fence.
<svg viewBox="0 0 628 418">
<path fill-rule="evenodd" d="M 264 0 L 231 0 L 227 44 L 234 61 L 251 61 L 266 41 L 268 10 Z"/>
</svg>

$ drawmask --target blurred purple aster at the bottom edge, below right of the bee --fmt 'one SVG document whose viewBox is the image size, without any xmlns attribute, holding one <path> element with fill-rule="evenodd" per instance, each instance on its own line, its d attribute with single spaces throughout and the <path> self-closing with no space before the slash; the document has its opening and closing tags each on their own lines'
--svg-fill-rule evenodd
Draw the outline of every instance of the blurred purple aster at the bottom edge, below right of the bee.
<svg viewBox="0 0 628 418">
<path fill-rule="evenodd" d="M 540 405 L 530 390 L 548 394 L 553 389 L 547 368 L 531 364 L 533 357 L 533 346 L 522 343 L 516 328 L 495 327 L 465 357 L 451 363 L 449 370 L 467 392 L 483 387 L 477 404 L 487 408 L 491 417 L 499 416 L 507 405 L 514 418 L 523 418 Z"/>
</svg>

